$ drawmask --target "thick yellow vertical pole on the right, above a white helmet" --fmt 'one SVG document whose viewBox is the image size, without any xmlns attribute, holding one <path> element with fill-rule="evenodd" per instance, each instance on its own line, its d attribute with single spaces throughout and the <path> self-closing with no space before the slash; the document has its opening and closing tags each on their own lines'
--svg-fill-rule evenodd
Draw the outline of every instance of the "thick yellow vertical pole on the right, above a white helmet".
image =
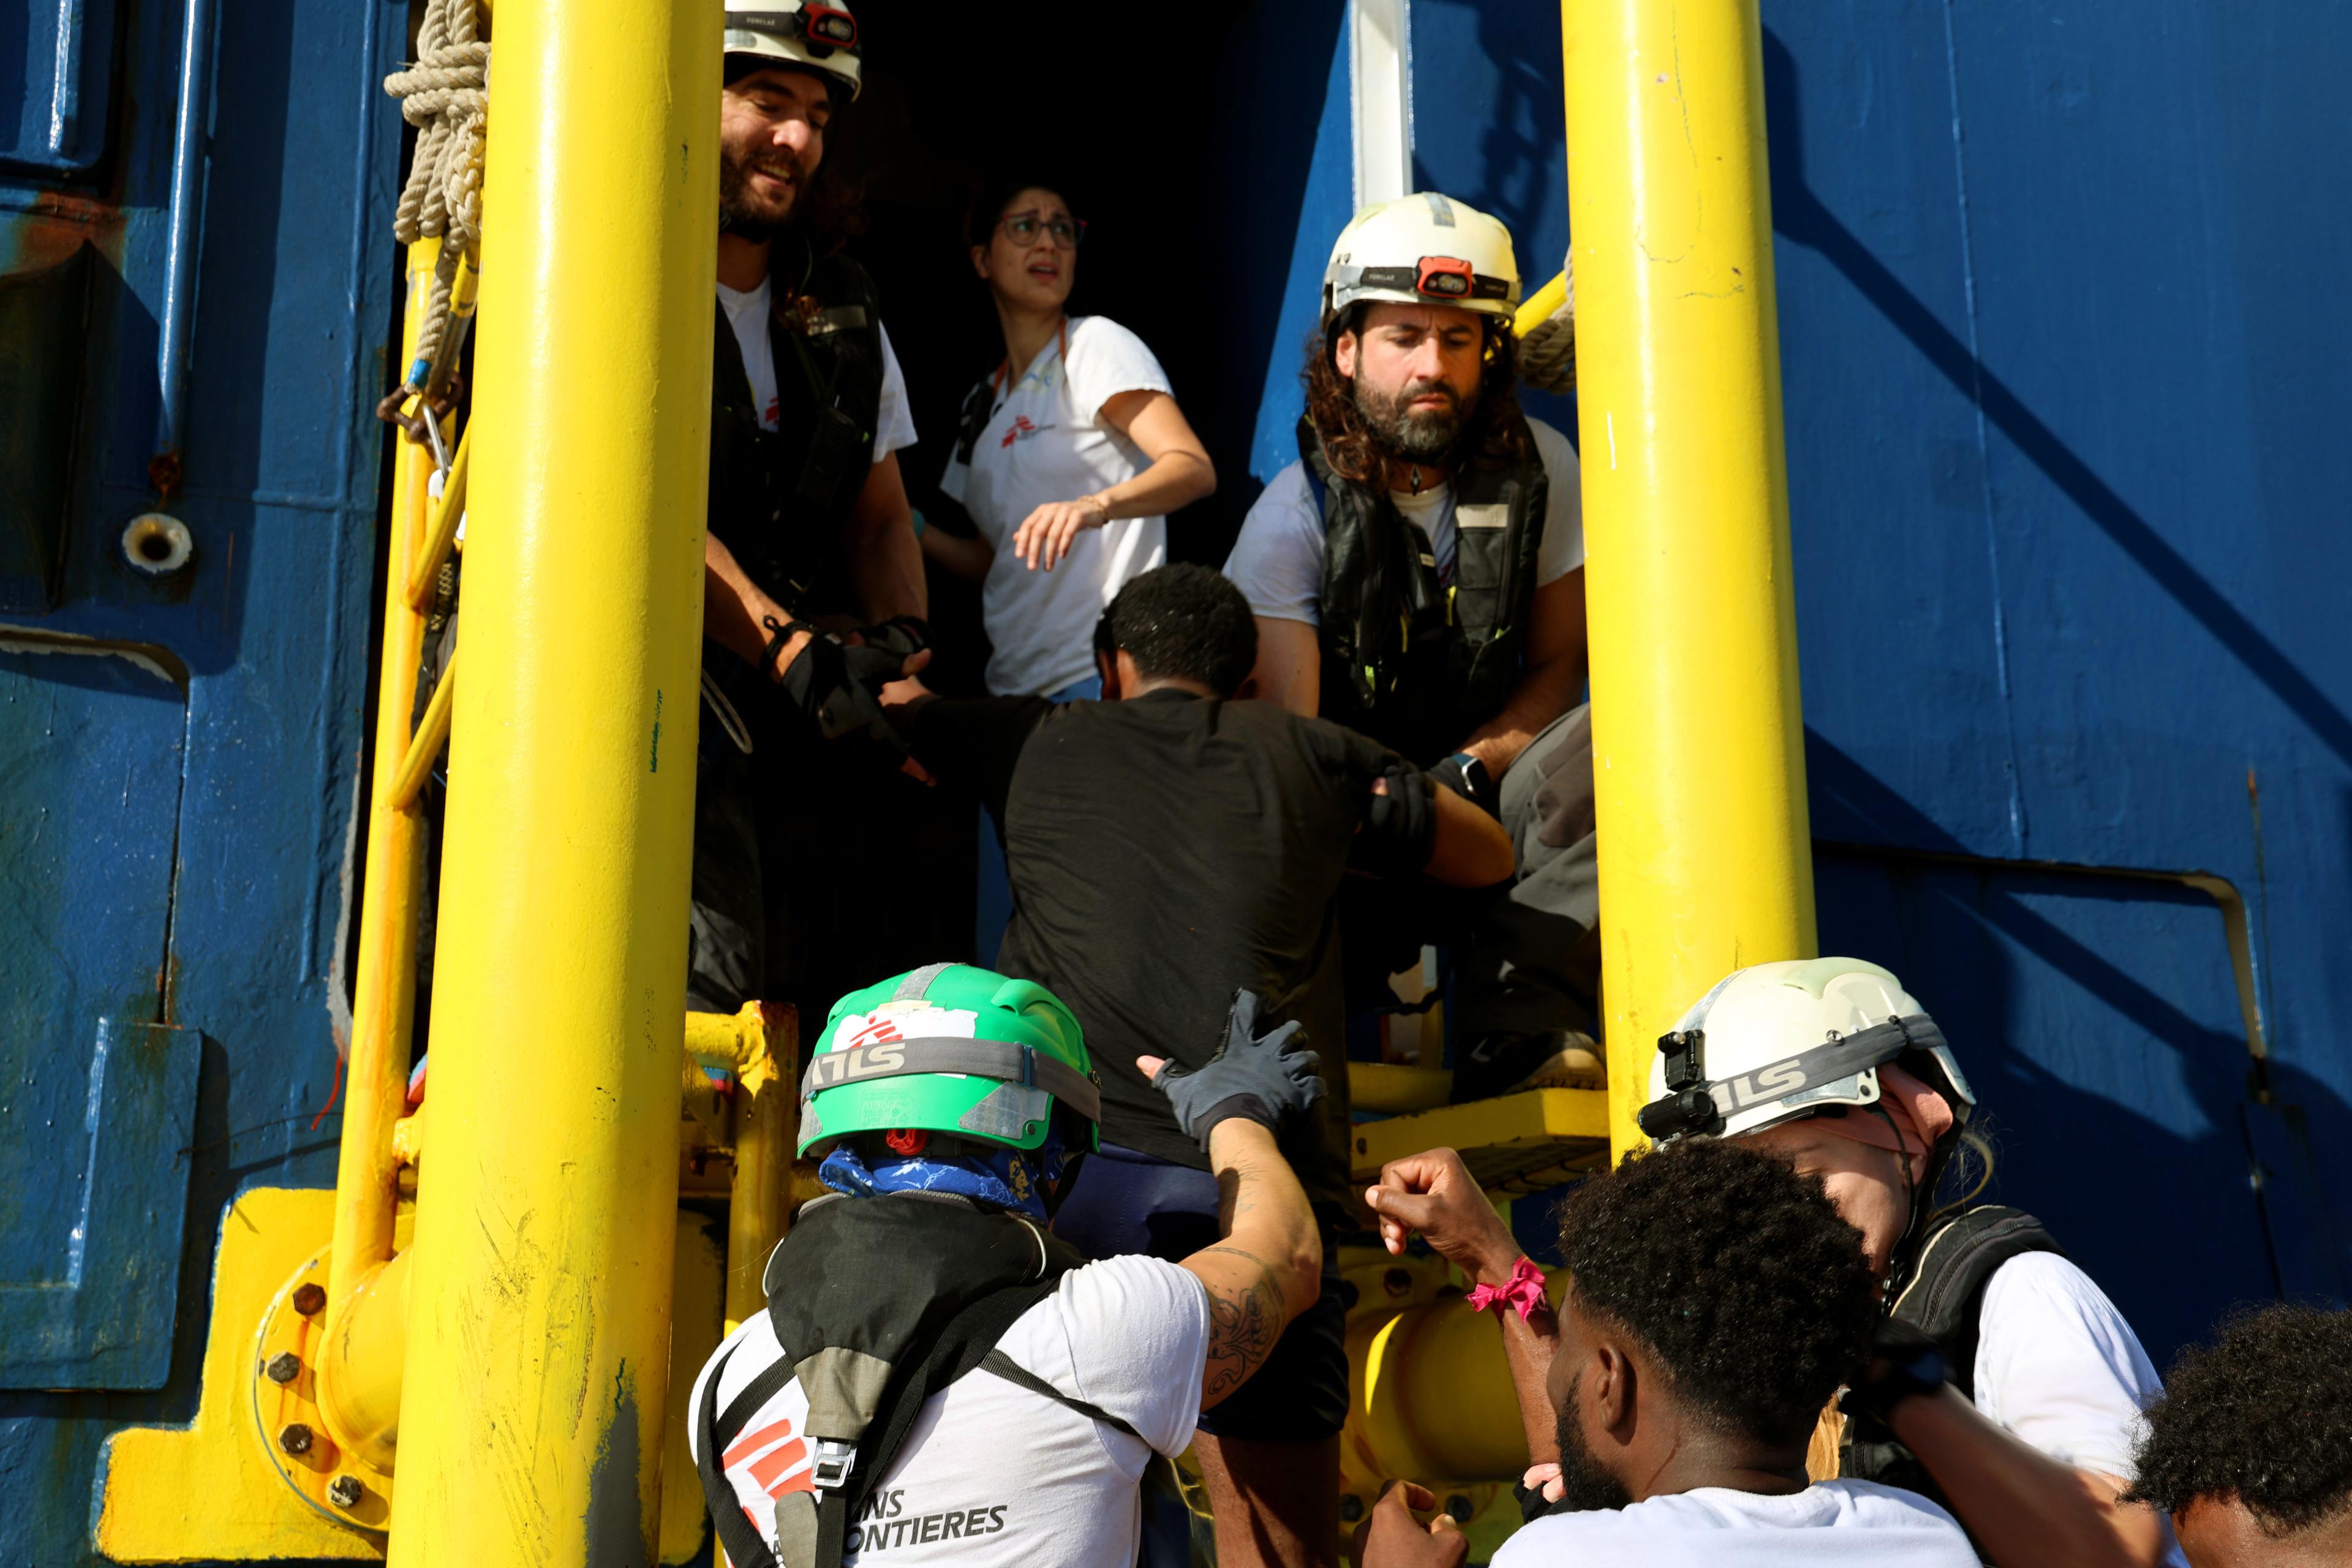
<svg viewBox="0 0 2352 1568">
<path fill-rule="evenodd" d="M 1564 0 L 1609 1140 L 1658 1034 L 1813 952 L 1755 0 Z"/>
</svg>

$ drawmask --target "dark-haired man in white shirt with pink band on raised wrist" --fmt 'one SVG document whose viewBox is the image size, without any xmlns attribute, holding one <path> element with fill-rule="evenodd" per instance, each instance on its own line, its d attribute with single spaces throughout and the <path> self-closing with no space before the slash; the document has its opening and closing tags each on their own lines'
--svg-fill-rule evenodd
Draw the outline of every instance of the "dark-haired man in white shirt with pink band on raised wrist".
<svg viewBox="0 0 2352 1568">
<path fill-rule="evenodd" d="M 1392 1161 L 1369 1199 L 1392 1251 L 1425 1229 L 1479 1281 L 1510 1281 L 1472 1302 L 1505 1314 L 1529 1483 L 1557 1502 L 1494 1568 L 1976 1568 L 1926 1497 L 1806 1483 L 1813 1425 L 1879 1316 L 1860 1232 L 1820 1178 L 1684 1138 L 1585 1180 L 1562 1204 L 1557 1316 L 1451 1150 Z M 1461 1535 L 1421 1528 L 1409 1502 L 1383 1493 L 1362 1568 L 1463 1561 Z"/>
</svg>

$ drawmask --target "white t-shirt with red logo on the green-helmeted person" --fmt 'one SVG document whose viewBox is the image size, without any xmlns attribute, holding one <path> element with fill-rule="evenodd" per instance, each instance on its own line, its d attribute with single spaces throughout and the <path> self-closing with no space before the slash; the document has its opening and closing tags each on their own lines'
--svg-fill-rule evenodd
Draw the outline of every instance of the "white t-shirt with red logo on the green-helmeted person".
<svg viewBox="0 0 2352 1568">
<path fill-rule="evenodd" d="M 731 1349 L 739 1354 L 720 1378 L 722 1410 L 783 1354 L 767 1314 L 755 1314 L 694 1380 L 691 1410 L 703 1408 L 703 1382 Z M 844 1563 L 868 1547 L 887 1563 L 969 1568 L 1136 1561 L 1143 1467 L 1152 1450 L 1181 1453 L 1200 1418 L 1209 1354 L 1209 1293 L 1200 1276 L 1157 1258 L 1089 1262 L 1023 1312 L 997 1349 L 1063 1394 L 1117 1415 L 1143 1441 L 971 1371 L 924 1401 L 863 1516 L 849 1523 Z M 769 1547 L 774 1500 L 814 1490 L 800 1439 L 807 1415 L 809 1396 L 795 1378 L 760 1406 L 724 1455 L 736 1500 Z"/>
</svg>

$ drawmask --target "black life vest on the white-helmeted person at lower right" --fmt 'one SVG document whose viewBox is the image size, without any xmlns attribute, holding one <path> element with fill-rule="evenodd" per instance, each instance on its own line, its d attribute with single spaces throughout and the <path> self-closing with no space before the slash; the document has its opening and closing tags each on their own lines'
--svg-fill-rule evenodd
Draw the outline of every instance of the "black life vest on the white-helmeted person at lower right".
<svg viewBox="0 0 2352 1568">
<path fill-rule="evenodd" d="M 1910 1279 L 1896 1293 L 1893 1316 L 1936 1340 L 1950 1368 L 1952 1385 L 1976 1403 L 1978 1316 L 1985 1309 L 1985 1286 L 2011 1258 L 2058 1253 L 2065 1248 L 2020 1208 L 1976 1204 L 1929 1225 Z M 1936 1476 L 1905 1448 L 1893 1432 L 1867 1415 L 1846 1420 L 1839 1474 L 1856 1481 L 1879 1481 L 1919 1493 L 1950 1509 Z"/>
</svg>

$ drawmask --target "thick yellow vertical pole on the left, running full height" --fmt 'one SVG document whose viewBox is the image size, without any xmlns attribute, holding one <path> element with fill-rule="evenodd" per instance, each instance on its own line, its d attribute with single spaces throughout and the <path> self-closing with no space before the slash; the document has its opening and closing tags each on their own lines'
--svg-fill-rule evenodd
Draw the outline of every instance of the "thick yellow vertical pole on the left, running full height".
<svg viewBox="0 0 2352 1568">
<path fill-rule="evenodd" d="M 720 5 L 501 0 L 496 56 L 390 1561 L 649 1563 Z"/>
</svg>

